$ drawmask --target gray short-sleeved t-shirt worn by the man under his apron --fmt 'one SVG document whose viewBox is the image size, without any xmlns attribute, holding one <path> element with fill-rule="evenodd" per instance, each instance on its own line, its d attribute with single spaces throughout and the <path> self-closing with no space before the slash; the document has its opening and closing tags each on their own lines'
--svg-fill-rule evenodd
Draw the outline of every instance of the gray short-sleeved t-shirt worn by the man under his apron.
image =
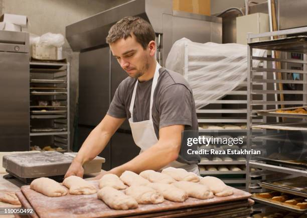
<svg viewBox="0 0 307 218">
<path fill-rule="evenodd" d="M 182 75 L 160 68 L 160 76 L 152 104 L 152 122 L 159 139 L 159 129 L 171 125 L 185 125 L 185 130 L 198 130 L 195 102 L 192 89 Z M 129 106 L 136 79 L 127 77 L 117 87 L 108 115 L 129 119 Z M 149 120 L 149 104 L 152 79 L 138 82 L 133 107 L 133 122 Z M 179 156 L 177 161 L 194 164 Z"/>
</svg>

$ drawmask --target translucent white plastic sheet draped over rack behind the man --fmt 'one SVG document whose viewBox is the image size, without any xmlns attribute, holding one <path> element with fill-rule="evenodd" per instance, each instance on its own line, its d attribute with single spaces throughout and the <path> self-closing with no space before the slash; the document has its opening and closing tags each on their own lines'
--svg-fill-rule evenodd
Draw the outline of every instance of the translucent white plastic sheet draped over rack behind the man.
<svg viewBox="0 0 307 218">
<path fill-rule="evenodd" d="M 253 49 L 263 57 L 264 50 Z M 253 61 L 253 67 L 260 61 Z M 196 43 L 182 38 L 167 57 L 166 68 L 186 78 L 193 89 L 196 108 L 223 97 L 247 77 L 247 46 L 235 43 Z"/>
</svg>

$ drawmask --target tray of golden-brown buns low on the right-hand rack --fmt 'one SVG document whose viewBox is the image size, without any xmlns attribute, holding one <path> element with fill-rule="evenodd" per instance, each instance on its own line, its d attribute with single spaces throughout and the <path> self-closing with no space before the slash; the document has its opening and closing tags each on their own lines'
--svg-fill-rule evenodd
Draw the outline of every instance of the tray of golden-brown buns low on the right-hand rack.
<svg viewBox="0 0 307 218">
<path fill-rule="evenodd" d="M 307 201 L 304 197 L 296 196 L 279 191 L 268 191 L 253 193 L 252 198 L 261 203 L 290 210 L 293 212 L 304 213 L 307 211 Z"/>
</svg>

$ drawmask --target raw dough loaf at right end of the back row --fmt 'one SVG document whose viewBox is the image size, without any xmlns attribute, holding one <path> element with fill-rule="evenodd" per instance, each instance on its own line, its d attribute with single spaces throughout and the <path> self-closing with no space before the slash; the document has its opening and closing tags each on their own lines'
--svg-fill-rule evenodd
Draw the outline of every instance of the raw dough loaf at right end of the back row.
<svg viewBox="0 0 307 218">
<path fill-rule="evenodd" d="M 168 167 L 163 169 L 162 173 L 173 177 L 177 181 L 199 182 L 199 177 L 195 173 L 188 172 L 182 168 Z"/>
</svg>

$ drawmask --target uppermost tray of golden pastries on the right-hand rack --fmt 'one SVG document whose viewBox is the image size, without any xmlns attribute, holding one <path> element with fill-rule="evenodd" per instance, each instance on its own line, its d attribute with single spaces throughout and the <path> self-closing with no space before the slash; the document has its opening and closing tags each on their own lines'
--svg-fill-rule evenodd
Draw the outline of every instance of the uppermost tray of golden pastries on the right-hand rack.
<svg viewBox="0 0 307 218">
<path fill-rule="evenodd" d="M 258 111 L 257 114 L 260 116 L 272 117 L 307 118 L 307 106 L 286 107 L 277 110 L 261 110 Z"/>
</svg>

